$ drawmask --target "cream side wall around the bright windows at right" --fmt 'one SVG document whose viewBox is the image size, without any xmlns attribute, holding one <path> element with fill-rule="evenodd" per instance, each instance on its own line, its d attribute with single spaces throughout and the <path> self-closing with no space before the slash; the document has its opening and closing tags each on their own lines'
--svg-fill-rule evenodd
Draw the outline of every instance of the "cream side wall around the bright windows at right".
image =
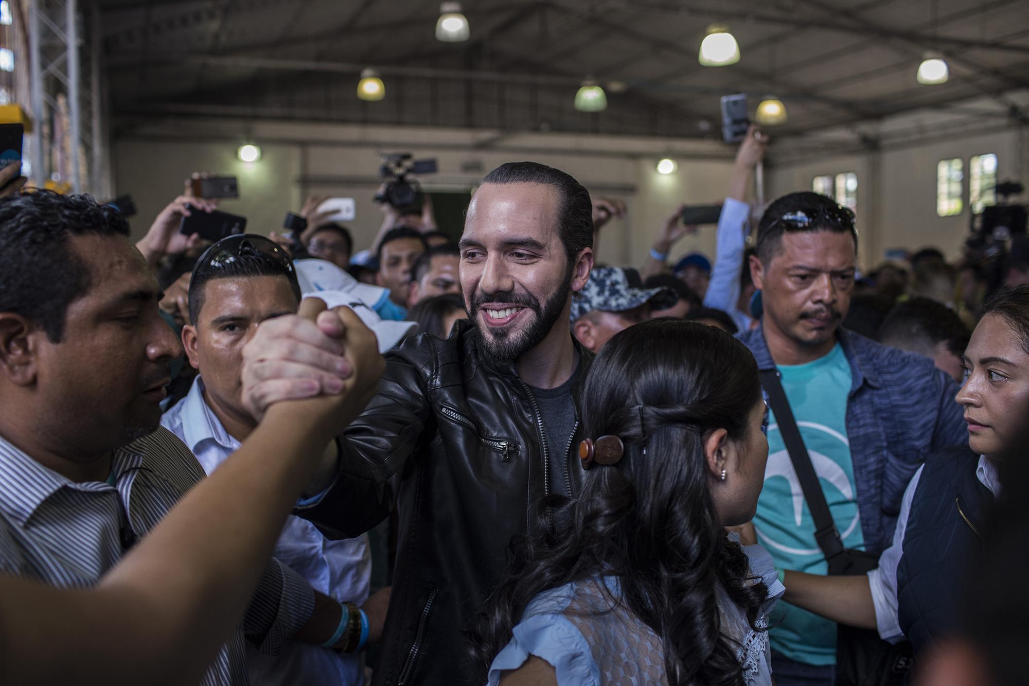
<svg viewBox="0 0 1029 686">
<path fill-rule="evenodd" d="M 1029 94 L 1009 94 L 1006 99 L 1029 103 Z M 847 136 L 855 134 L 878 140 L 878 149 L 848 145 Z M 857 172 L 859 260 L 864 268 L 875 267 L 890 248 L 916 250 L 933 245 L 956 259 L 969 236 L 969 158 L 994 152 L 999 181 L 1020 180 L 1029 186 L 1027 134 L 1029 129 L 1006 116 L 1002 103 L 980 99 L 949 110 L 910 112 L 848 132 L 782 140 L 773 143 L 769 195 L 811 190 L 815 176 Z M 850 149 L 818 152 L 819 147 Z M 936 163 L 951 158 L 964 161 L 964 208 L 958 215 L 942 217 L 936 214 Z M 1013 202 L 1026 202 L 1025 196 Z"/>
</svg>

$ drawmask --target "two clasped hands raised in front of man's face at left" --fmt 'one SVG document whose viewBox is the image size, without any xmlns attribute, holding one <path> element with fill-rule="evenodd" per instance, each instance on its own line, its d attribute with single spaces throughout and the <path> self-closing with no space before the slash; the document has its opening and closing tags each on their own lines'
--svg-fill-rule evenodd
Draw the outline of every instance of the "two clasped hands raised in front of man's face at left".
<svg viewBox="0 0 1029 686">
<path fill-rule="evenodd" d="M 243 349 L 243 402 L 258 421 L 288 412 L 328 439 L 364 409 L 385 369 L 375 333 L 353 310 L 308 298 L 297 314 L 262 323 Z"/>
</svg>

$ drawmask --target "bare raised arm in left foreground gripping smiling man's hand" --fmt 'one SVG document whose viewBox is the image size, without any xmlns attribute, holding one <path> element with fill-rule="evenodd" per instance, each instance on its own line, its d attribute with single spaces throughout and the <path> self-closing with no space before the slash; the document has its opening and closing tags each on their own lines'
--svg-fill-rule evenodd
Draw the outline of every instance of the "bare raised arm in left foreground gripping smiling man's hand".
<svg viewBox="0 0 1029 686">
<path fill-rule="evenodd" d="M 301 312 L 314 318 L 318 304 Z M 318 322 L 344 342 L 343 387 L 269 408 L 97 588 L 0 579 L 0 682 L 196 683 L 243 617 L 320 448 L 363 409 L 382 373 L 375 335 L 353 312 L 322 312 Z"/>
</svg>

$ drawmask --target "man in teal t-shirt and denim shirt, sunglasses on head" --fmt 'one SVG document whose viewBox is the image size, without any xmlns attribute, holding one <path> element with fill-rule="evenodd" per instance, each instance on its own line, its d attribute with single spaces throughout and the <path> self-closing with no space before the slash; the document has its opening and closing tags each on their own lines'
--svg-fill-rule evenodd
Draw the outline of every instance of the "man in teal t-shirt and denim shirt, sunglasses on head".
<svg viewBox="0 0 1029 686">
<path fill-rule="evenodd" d="M 760 325 L 740 339 L 762 371 L 777 371 L 843 547 L 889 547 L 904 488 L 929 453 L 961 443 L 958 386 L 931 359 L 843 329 L 857 260 L 854 213 L 831 198 L 793 193 L 761 217 L 750 258 Z M 762 376 L 768 393 L 769 385 Z M 812 508 L 773 417 L 758 541 L 780 570 L 826 574 Z M 824 545 L 832 533 L 819 531 Z M 779 686 L 832 684 L 836 624 L 780 603 L 772 622 Z"/>
</svg>

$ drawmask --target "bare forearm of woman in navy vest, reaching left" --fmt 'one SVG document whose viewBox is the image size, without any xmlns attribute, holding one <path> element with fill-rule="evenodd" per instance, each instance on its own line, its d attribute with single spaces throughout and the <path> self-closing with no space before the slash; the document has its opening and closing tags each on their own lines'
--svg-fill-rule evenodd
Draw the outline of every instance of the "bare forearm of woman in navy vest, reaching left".
<svg viewBox="0 0 1029 686">
<path fill-rule="evenodd" d="M 865 575 L 823 577 L 786 572 L 783 599 L 840 624 L 876 628 L 876 606 Z"/>
</svg>

